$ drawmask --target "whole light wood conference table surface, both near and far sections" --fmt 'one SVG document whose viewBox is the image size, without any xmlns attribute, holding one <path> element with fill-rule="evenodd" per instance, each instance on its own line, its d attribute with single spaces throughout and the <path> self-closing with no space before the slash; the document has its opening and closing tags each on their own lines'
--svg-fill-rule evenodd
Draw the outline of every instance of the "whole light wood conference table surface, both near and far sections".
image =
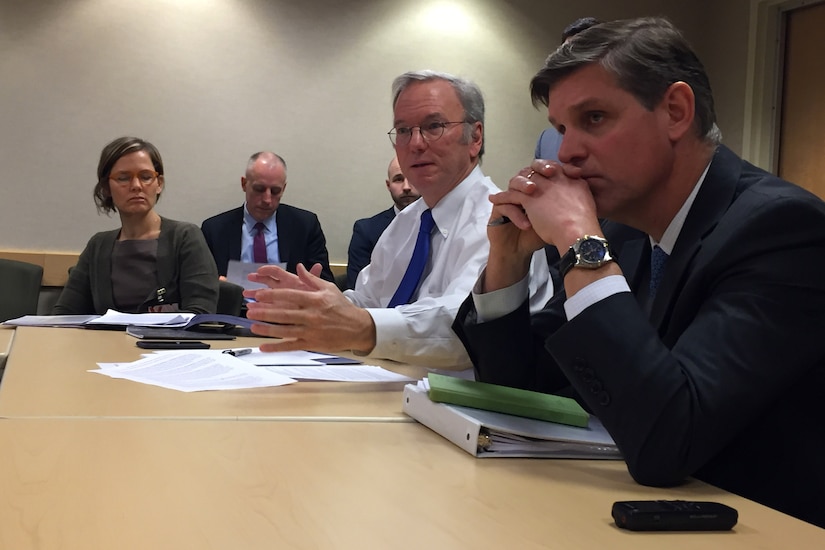
<svg viewBox="0 0 825 550">
<path fill-rule="evenodd" d="M 217 399 L 176 413 L 160 393 L 136 393 L 140 384 L 80 370 L 80 356 L 93 357 L 84 370 L 136 358 L 118 337 L 17 329 L 0 389 L 0 549 L 825 545 L 825 531 L 698 481 L 654 489 L 634 483 L 621 462 L 473 458 L 400 422 L 398 387 L 298 383 L 261 392 L 290 401 L 283 408 Z M 77 373 L 50 381 L 61 367 Z M 38 383 L 58 385 L 19 395 Z M 373 394 L 382 397 L 365 399 Z M 130 399 L 141 403 L 116 405 Z M 152 412 L 155 399 L 163 415 Z M 720 501 L 740 521 L 733 532 L 702 534 L 613 525 L 613 501 L 659 498 Z"/>
</svg>

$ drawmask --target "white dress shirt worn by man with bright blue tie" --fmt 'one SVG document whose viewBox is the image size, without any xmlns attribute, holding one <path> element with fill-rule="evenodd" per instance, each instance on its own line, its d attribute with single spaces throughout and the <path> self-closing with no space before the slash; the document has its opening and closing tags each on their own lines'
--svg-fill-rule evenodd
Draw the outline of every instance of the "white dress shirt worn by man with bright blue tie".
<svg viewBox="0 0 825 550">
<path fill-rule="evenodd" d="M 464 346 L 450 328 L 461 303 L 487 262 L 489 196 L 500 189 L 478 166 L 431 209 L 436 228 L 430 259 L 414 302 L 387 308 L 410 263 L 421 213 L 419 199 L 390 223 L 361 270 L 354 290 L 344 295 L 366 308 L 375 322 L 376 345 L 369 357 L 431 367 L 471 365 Z M 530 272 L 531 306 L 540 309 L 553 295 L 544 251 L 534 255 Z"/>
</svg>

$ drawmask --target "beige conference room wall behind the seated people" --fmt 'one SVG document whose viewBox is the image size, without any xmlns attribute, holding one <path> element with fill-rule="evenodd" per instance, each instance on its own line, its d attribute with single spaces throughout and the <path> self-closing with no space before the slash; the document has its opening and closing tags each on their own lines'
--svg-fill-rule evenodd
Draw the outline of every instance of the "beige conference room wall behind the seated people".
<svg viewBox="0 0 825 550">
<path fill-rule="evenodd" d="M 137 135 L 164 157 L 158 211 L 197 224 L 241 204 L 251 153 L 277 151 L 285 202 L 316 212 L 345 262 L 353 221 L 389 204 L 392 79 L 478 82 L 484 170 L 506 186 L 546 126 L 528 81 L 583 15 L 673 19 L 738 150 L 748 13 L 748 0 L 0 0 L 0 249 L 79 252 L 117 227 L 96 214 L 95 169 L 104 144 Z"/>
</svg>

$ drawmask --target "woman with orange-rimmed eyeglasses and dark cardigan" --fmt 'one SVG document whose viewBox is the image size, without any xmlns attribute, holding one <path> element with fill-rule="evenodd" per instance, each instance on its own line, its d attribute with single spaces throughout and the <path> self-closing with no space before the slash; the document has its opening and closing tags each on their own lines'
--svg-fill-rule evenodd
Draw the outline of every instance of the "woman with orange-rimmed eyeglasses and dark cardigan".
<svg viewBox="0 0 825 550">
<path fill-rule="evenodd" d="M 89 240 L 54 314 L 215 312 L 218 271 L 203 234 L 155 212 L 165 183 L 148 141 L 122 137 L 103 148 L 94 200 L 99 213 L 117 212 L 121 226 Z"/>
</svg>

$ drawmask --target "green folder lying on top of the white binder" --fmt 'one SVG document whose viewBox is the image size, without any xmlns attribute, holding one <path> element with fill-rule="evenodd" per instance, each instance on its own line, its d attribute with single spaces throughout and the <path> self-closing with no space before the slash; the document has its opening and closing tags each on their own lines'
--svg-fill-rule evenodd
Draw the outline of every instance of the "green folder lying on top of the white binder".
<svg viewBox="0 0 825 550">
<path fill-rule="evenodd" d="M 496 386 L 430 373 L 429 396 L 432 401 L 475 409 L 537 418 L 570 426 L 587 427 L 590 415 L 569 397 Z"/>
</svg>

